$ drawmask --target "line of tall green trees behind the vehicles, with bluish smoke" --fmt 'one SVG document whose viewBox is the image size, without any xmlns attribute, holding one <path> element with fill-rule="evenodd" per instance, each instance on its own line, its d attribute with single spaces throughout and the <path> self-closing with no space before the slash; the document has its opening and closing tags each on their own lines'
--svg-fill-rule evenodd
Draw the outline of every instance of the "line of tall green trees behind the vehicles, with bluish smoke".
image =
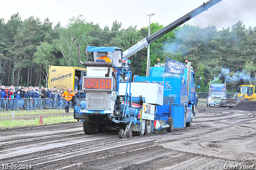
<svg viewBox="0 0 256 170">
<path fill-rule="evenodd" d="M 100 28 L 87 22 L 82 15 L 70 18 L 66 26 L 53 25 L 49 18 L 21 20 L 13 14 L 5 23 L 0 18 L 0 83 L 5 86 L 47 86 L 49 65 L 78 66 L 76 44 L 80 44 L 81 60 L 86 61 L 86 46 L 117 46 L 126 50 L 148 36 L 148 27 L 122 28 L 114 21 L 112 27 Z M 150 32 L 163 28 L 150 24 Z M 191 61 L 196 75 L 202 77 L 201 88 L 209 82 L 227 82 L 230 92 L 241 84 L 256 82 L 256 28 L 246 28 L 241 21 L 216 30 L 215 26 L 200 28 L 184 24 L 158 38 L 150 45 L 150 66 L 157 58 L 165 62 Z M 130 56 L 133 75 L 146 75 L 147 49 Z"/>
</svg>

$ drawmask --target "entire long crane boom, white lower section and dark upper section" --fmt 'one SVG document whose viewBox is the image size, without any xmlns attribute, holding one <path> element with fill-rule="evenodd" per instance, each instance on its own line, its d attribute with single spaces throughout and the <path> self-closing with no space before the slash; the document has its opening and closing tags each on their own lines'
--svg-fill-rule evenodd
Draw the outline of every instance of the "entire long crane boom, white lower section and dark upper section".
<svg viewBox="0 0 256 170">
<path fill-rule="evenodd" d="M 204 12 L 205 10 L 208 10 L 208 8 L 214 6 L 215 4 L 219 3 L 222 0 L 210 0 L 204 4 L 202 4 L 201 6 L 199 6 L 198 8 L 192 10 L 191 12 L 189 12 L 188 14 L 182 16 L 181 18 L 179 18 L 178 20 L 172 22 L 171 24 L 169 24 L 168 26 L 165 26 L 164 28 L 162 28 L 161 30 L 158 30 L 157 32 L 155 32 L 154 34 L 143 38 L 142 40 L 140 40 L 139 42 L 137 42 L 137 44 L 135 44 L 134 46 L 128 48 L 127 50 L 125 50 L 123 52 L 123 56 L 124 58 L 128 58 L 130 57 L 132 54 L 140 51 L 141 49 L 143 49 L 144 47 L 148 46 L 149 44 L 151 44 L 154 40 L 160 38 L 161 36 L 163 36 L 164 34 L 167 34 L 168 32 L 170 32 L 171 30 L 174 30 L 175 28 L 177 28 L 178 26 L 180 26 L 181 24 L 184 24 L 185 22 L 187 22 L 188 20 L 194 18 L 195 16 L 197 16 L 198 14 L 201 14 L 202 12 Z"/>
</svg>

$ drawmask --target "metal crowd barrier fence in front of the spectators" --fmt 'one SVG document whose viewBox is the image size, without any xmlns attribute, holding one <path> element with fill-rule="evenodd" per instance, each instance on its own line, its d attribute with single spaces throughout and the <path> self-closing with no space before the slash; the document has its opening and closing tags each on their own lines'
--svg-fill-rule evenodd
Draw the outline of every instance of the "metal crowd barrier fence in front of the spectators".
<svg viewBox="0 0 256 170">
<path fill-rule="evenodd" d="M 75 99 L 76 103 L 85 100 L 84 98 Z M 72 103 L 70 104 L 72 106 Z M 36 109 L 62 109 L 65 108 L 65 99 L 52 98 L 0 98 L 0 110 L 36 110 Z"/>
</svg>

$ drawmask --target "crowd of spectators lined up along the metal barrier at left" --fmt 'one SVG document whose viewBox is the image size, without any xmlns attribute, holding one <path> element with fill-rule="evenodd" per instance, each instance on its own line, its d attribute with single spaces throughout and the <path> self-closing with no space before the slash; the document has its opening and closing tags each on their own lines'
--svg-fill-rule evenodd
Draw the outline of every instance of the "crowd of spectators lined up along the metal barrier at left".
<svg viewBox="0 0 256 170">
<path fill-rule="evenodd" d="M 67 89 L 66 89 L 67 90 Z M 65 108 L 65 101 L 61 95 L 66 91 L 63 88 L 46 88 L 38 86 L 23 87 L 1 86 L 0 110 L 8 109 L 37 109 L 37 108 Z M 72 107 L 76 105 L 76 99 L 80 98 L 79 91 L 74 90 Z"/>
</svg>

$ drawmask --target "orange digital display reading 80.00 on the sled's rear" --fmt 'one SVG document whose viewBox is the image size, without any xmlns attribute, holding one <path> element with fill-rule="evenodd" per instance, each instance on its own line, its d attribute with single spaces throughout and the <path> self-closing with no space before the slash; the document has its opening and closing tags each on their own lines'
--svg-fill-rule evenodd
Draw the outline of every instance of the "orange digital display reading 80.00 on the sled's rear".
<svg viewBox="0 0 256 170">
<path fill-rule="evenodd" d="M 83 77 L 82 90 L 112 91 L 112 77 Z"/>
</svg>

